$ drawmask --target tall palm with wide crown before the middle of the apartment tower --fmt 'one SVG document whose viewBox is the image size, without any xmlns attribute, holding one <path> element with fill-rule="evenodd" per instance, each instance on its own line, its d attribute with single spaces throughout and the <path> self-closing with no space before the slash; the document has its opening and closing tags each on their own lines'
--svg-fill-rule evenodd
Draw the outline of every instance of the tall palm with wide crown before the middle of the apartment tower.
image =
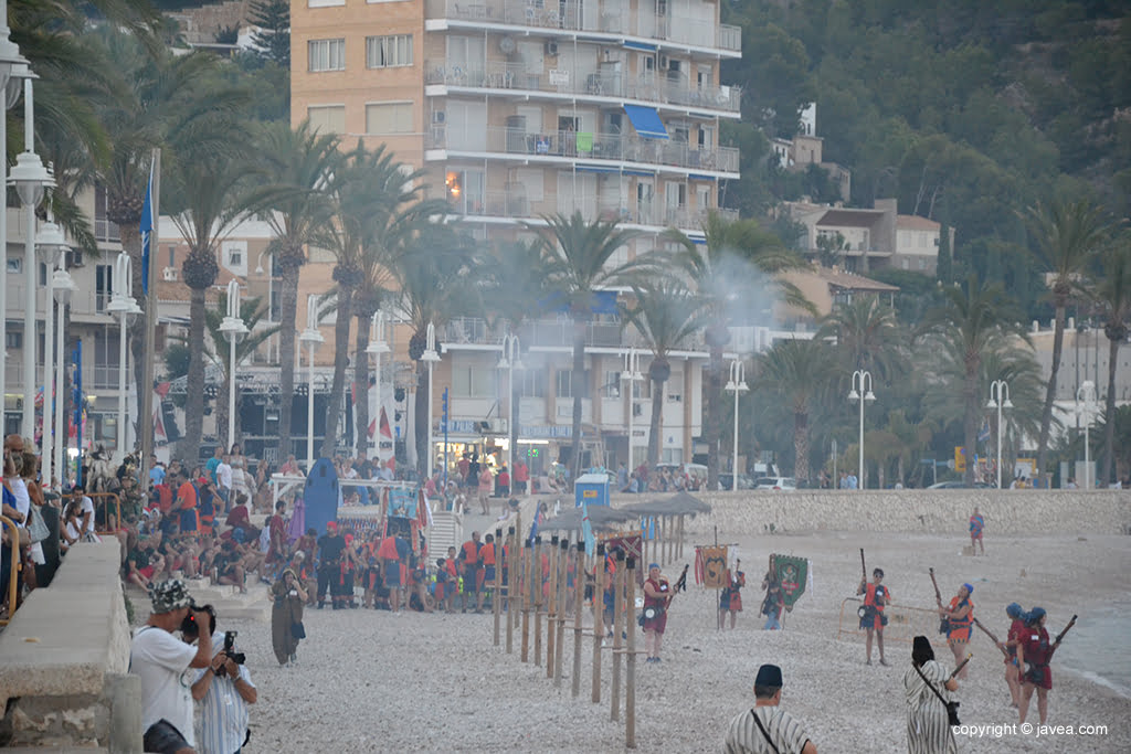
<svg viewBox="0 0 1131 754">
<path fill-rule="evenodd" d="M 618 222 L 586 222 L 580 211 L 570 217 L 545 217 L 545 226 L 527 225 L 542 239 L 543 253 L 550 268 L 550 286 L 560 293 L 573 320 L 573 370 L 570 387 L 573 392 L 572 443 L 570 445 L 571 479 L 581 470 L 581 400 L 588 395 L 585 379 L 585 335 L 592 317 L 594 294 L 619 283 L 636 266 L 632 262 L 612 266 L 616 250 L 628 245 L 639 233 L 622 229 Z"/>
</svg>

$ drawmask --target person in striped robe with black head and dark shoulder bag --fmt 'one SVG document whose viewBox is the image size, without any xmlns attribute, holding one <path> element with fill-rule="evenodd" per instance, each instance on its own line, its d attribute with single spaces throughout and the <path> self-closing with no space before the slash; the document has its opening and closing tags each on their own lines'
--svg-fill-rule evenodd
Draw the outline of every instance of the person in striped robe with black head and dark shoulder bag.
<svg viewBox="0 0 1131 754">
<path fill-rule="evenodd" d="M 934 650 L 926 636 L 915 636 L 912 648 L 913 667 L 904 674 L 907 702 L 908 754 L 956 754 L 958 744 L 950 728 L 947 707 L 931 686 L 950 701 L 948 692 L 958 690 L 958 682 L 950 678 L 934 660 Z M 920 675 L 922 674 L 922 675 Z M 924 681 L 925 678 L 925 681 Z"/>
</svg>

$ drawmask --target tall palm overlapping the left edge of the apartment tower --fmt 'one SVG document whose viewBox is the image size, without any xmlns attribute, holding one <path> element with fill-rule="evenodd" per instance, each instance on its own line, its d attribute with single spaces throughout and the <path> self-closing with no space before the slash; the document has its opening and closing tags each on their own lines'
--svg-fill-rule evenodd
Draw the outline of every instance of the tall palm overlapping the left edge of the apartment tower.
<svg viewBox="0 0 1131 754">
<path fill-rule="evenodd" d="M 266 123 L 259 136 L 259 154 L 268 181 L 259 206 L 275 235 L 269 249 L 279 274 L 279 439 L 285 456 L 294 409 L 299 270 L 307 262 L 307 245 L 333 216 L 326 189 L 342 153 L 336 135 L 316 133 L 303 121 L 294 129 L 286 123 Z"/>
</svg>

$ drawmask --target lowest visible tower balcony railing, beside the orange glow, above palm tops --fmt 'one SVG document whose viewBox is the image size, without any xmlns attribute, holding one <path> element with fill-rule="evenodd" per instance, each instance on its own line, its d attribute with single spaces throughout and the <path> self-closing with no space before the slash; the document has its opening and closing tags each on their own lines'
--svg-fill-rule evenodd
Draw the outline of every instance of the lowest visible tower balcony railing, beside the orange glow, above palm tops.
<svg viewBox="0 0 1131 754">
<path fill-rule="evenodd" d="M 708 213 L 713 210 L 728 220 L 739 218 L 739 213 L 734 209 L 689 209 L 666 207 L 659 202 L 648 205 L 628 200 L 613 203 L 607 198 L 585 193 L 544 194 L 541 200 L 533 200 L 527 188 L 520 184 L 507 191 L 465 192 L 463 197 L 451 202 L 451 207 L 455 214 L 466 217 L 533 218 L 556 213 L 572 215 L 575 211 L 580 211 L 588 222 L 618 219 L 622 223 L 690 231 L 700 229 Z"/>
</svg>

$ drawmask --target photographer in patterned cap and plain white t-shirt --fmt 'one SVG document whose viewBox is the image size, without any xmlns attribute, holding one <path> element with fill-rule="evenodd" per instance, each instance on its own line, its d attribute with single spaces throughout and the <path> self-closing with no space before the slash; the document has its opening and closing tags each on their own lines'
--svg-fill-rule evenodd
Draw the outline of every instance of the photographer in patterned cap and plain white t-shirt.
<svg viewBox="0 0 1131 754">
<path fill-rule="evenodd" d="M 141 679 L 141 727 L 145 751 L 161 754 L 192 754 L 192 696 L 187 670 L 211 662 L 211 634 L 200 632 L 196 647 L 178 641 L 174 631 L 188 619 L 204 624 L 207 610 L 197 609 L 180 579 L 170 579 L 149 590 L 153 609 L 146 624 L 133 634 L 130 673 Z"/>
</svg>

